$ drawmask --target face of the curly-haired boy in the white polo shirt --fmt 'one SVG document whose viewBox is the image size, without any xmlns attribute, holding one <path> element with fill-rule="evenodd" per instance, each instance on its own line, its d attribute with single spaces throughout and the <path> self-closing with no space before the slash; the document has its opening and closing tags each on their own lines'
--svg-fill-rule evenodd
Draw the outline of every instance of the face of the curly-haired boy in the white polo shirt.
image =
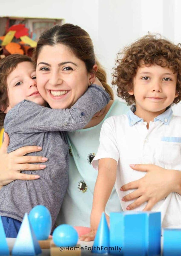
<svg viewBox="0 0 181 256">
<path fill-rule="evenodd" d="M 137 108 L 164 112 L 178 96 L 176 82 L 177 74 L 171 69 L 156 64 L 146 67 L 141 63 L 133 79 L 133 90 L 128 93 L 134 94 Z"/>
</svg>

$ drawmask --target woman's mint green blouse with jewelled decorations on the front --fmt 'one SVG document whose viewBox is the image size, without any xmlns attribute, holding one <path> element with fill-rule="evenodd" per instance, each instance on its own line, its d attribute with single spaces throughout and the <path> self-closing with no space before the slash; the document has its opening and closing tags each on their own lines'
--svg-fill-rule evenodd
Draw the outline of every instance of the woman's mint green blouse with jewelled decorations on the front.
<svg viewBox="0 0 181 256">
<path fill-rule="evenodd" d="M 90 227 L 90 212 L 92 208 L 94 186 L 97 171 L 88 162 L 89 154 L 96 154 L 99 146 L 101 126 L 106 118 L 113 115 L 125 114 L 129 107 L 115 100 L 103 121 L 94 127 L 68 132 L 68 142 L 71 146 L 69 185 L 65 194 L 56 224 L 66 223 L 72 226 Z M 81 180 L 87 185 L 87 191 L 78 190 Z M 106 205 L 106 213 L 122 211 L 115 187 Z"/>
</svg>

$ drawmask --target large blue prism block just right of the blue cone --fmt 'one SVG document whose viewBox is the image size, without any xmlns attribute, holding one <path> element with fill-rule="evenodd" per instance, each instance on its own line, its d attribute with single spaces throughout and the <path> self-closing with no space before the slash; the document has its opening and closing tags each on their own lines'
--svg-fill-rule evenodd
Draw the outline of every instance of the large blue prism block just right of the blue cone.
<svg viewBox="0 0 181 256">
<path fill-rule="evenodd" d="M 111 254 L 124 256 L 158 255 L 160 254 L 160 243 L 160 212 L 110 213 L 109 246 L 118 246 L 118 250 L 110 251 Z"/>
</svg>

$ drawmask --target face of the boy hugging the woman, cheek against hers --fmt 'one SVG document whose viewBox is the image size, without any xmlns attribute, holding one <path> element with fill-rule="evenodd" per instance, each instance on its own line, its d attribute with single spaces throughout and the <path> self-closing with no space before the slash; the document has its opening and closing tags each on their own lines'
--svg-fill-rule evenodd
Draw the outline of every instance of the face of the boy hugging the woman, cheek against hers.
<svg viewBox="0 0 181 256">
<path fill-rule="evenodd" d="M 39 94 L 36 84 L 36 69 L 28 61 L 21 62 L 7 77 L 7 89 L 9 106 L 11 108 L 22 100 L 30 100 L 39 105 L 44 105 L 45 101 Z"/>
</svg>

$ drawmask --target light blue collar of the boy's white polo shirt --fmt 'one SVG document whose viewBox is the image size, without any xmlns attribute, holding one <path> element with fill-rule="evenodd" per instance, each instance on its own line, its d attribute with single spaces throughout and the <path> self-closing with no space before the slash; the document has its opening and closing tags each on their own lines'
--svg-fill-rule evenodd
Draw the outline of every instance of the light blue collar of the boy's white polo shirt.
<svg viewBox="0 0 181 256">
<path fill-rule="evenodd" d="M 136 111 L 136 105 L 131 105 L 130 110 L 127 112 L 129 126 L 133 126 L 138 122 L 143 122 L 142 118 L 134 114 L 135 111 Z M 154 118 L 154 122 L 161 121 L 164 124 L 169 125 L 169 122 L 172 118 L 172 114 L 173 114 L 172 108 L 168 107 L 165 110 L 165 112 L 163 112 L 161 115 L 158 115 L 157 117 Z"/>
</svg>

